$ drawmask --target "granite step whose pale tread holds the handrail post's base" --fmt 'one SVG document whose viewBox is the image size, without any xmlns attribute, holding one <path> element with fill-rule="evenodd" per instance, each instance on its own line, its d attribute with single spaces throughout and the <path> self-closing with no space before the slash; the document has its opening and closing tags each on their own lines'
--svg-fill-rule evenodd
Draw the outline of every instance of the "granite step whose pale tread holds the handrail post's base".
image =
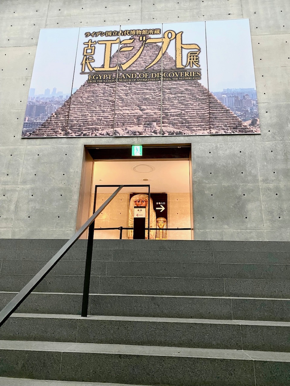
<svg viewBox="0 0 290 386">
<path fill-rule="evenodd" d="M 2 340 L 290 352 L 290 322 L 14 313 Z"/>
</svg>

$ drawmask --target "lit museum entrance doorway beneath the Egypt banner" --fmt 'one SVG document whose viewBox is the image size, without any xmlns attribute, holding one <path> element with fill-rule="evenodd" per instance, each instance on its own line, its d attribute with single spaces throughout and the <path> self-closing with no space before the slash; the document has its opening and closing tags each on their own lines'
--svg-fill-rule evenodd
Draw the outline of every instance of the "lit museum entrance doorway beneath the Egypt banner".
<svg viewBox="0 0 290 386">
<path fill-rule="evenodd" d="M 116 190 L 107 185 L 150 185 L 150 200 L 147 186 L 124 187 L 97 217 L 95 239 L 136 238 L 126 228 L 136 226 L 139 207 L 150 239 L 193 239 L 190 145 L 143 145 L 142 156 L 132 156 L 131 145 L 85 147 L 77 228 L 92 215 L 94 201 L 99 208 Z"/>
</svg>

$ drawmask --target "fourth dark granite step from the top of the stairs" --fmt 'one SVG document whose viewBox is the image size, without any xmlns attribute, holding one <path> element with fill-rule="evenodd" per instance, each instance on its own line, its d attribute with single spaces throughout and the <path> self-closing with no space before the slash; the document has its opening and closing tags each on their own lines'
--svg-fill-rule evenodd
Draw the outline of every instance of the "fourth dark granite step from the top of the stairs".
<svg viewBox="0 0 290 386">
<path fill-rule="evenodd" d="M 0 274 L 0 291 L 20 291 L 32 275 Z M 35 292 L 81 293 L 84 276 L 49 275 Z M 91 276 L 91 293 L 290 298 L 290 280 Z"/>
</svg>

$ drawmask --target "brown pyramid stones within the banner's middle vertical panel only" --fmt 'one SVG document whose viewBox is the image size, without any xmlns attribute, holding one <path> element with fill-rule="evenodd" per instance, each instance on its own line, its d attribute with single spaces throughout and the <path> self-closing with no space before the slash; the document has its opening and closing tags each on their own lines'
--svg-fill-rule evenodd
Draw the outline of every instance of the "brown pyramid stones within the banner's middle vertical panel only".
<svg viewBox="0 0 290 386">
<path fill-rule="evenodd" d="M 147 36 L 147 38 L 150 36 Z M 120 51 L 112 57 L 112 65 L 119 67 L 132 58 L 142 46 L 139 36 L 134 36 L 133 44 L 122 44 L 122 47 L 134 46 L 131 51 Z M 160 45 L 145 44 L 139 58 L 119 74 L 134 71 L 143 72 L 160 52 Z M 159 73 L 155 81 L 117 82 L 114 135 L 160 135 L 161 131 L 161 60 L 148 71 Z"/>
</svg>

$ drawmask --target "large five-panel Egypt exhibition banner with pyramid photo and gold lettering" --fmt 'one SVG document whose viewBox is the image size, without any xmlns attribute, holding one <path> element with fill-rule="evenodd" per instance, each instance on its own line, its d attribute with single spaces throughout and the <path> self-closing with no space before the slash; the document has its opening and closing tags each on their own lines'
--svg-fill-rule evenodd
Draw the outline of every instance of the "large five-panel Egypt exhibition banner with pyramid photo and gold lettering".
<svg viewBox="0 0 290 386">
<path fill-rule="evenodd" d="M 249 19 L 40 31 L 23 137 L 259 133 Z"/>
</svg>

